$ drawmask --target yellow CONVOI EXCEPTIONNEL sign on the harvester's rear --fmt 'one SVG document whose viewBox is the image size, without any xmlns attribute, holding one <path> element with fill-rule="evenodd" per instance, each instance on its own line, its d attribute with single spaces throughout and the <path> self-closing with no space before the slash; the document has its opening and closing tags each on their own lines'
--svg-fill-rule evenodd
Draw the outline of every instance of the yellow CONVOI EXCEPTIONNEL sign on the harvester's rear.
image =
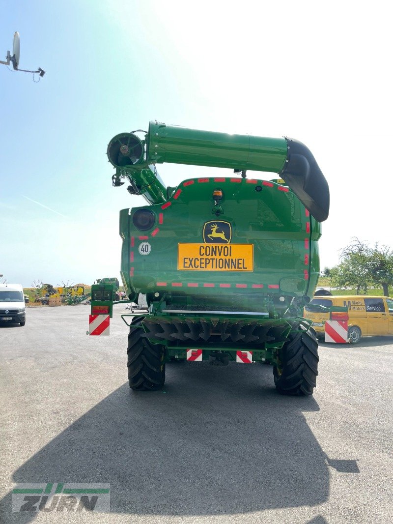
<svg viewBox="0 0 393 524">
<path fill-rule="evenodd" d="M 253 271 L 254 244 L 178 244 L 178 269 Z"/>
</svg>

